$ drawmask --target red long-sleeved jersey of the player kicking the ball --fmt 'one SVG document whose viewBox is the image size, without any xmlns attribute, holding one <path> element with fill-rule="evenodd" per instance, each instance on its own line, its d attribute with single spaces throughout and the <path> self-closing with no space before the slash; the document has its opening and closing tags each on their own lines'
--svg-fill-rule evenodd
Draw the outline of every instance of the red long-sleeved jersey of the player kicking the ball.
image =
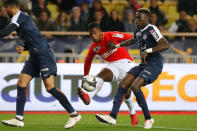
<svg viewBox="0 0 197 131">
<path fill-rule="evenodd" d="M 113 62 L 120 59 L 129 59 L 133 61 L 125 47 L 109 49 L 106 46 L 110 41 L 113 41 L 115 44 L 119 44 L 122 41 L 131 39 L 132 37 L 133 35 L 120 33 L 117 31 L 103 32 L 102 40 L 99 43 L 93 42 L 89 48 L 89 52 L 84 63 L 84 75 L 89 74 L 91 63 L 95 55 L 101 56 L 108 62 Z"/>
</svg>

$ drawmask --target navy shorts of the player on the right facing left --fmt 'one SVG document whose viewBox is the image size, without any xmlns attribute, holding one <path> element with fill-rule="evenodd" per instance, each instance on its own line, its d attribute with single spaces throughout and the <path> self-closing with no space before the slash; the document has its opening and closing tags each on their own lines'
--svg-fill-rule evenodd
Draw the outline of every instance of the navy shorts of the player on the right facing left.
<svg viewBox="0 0 197 131">
<path fill-rule="evenodd" d="M 145 81 L 145 85 L 154 82 L 161 74 L 163 66 L 161 64 L 140 64 L 130 69 L 128 73 L 134 75 L 135 78 L 141 77 Z"/>
</svg>

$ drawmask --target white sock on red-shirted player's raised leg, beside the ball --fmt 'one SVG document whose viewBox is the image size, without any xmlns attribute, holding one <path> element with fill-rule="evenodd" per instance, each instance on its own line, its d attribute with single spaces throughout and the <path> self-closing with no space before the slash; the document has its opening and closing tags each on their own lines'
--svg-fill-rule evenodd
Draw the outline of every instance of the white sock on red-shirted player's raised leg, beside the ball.
<svg viewBox="0 0 197 131">
<path fill-rule="evenodd" d="M 96 78 L 96 81 L 97 81 L 97 83 L 96 83 L 96 89 L 93 92 L 89 92 L 88 93 L 90 99 L 93 98 L 101 90 L 101 88 L 103 86 L 103 83 L 104 83 L 103 79 L 101 79 L 99 77 L 95 77 L 95 78 Z"/>
</svg>

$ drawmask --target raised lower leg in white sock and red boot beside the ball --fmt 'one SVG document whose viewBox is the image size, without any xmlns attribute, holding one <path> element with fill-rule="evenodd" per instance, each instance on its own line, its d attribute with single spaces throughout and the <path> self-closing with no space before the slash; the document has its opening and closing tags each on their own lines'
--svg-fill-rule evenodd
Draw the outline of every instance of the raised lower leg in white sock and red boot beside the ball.
<svg viewBox="0 0 197 131">
<path fill-rule="evenodd" d="M 82 88 L 78 88 L 78 95 L 79 95 L 79 98 L 81 98 L 81 100 L 83 101 L 83 103 L 85 105 L 89 105 L 90 104 L 90 99 L 92 97 L 94 97 L 95 94 L 97 94 L 100 89 L 102 88 L 103 86 L 103 79 L 99 78 L 99 77 L 95 77 L 96 78 L 96 88 L 95 88 L 95 91 L 91 92 L 90 95 L 88 93 L 86 93 Z"/>
</svg>

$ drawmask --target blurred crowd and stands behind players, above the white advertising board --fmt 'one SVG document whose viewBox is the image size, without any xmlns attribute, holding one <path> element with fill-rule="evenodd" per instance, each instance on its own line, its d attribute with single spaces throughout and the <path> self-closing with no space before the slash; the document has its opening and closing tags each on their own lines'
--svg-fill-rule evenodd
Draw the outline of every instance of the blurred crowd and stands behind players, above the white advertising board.
<svg viewBox="0 0 197 131">
<path fill-rule="evenodd" d="M 96 21 L 103 31 L 133 33 L 135 12 L 149 8 L 151 23 L 156 25 L 170 43 L 163 52 L 165 63 L 197 63 L 197 0 L 19 0 L 42 31 L 55 52 L 58 63 L 83 63 L 91 39 L 87 25 Z M 10 21 L 0 0 L 0 28 Z M 24 62 L 28 52 L 15 53 L 22 44 L 16 34 L 0 39 L 0 62 Z M 128 47 L 135 62 L 139 60 L 137 45 Z M 103 63 L 99 57 L 95 63 Z"/>
</svg>

